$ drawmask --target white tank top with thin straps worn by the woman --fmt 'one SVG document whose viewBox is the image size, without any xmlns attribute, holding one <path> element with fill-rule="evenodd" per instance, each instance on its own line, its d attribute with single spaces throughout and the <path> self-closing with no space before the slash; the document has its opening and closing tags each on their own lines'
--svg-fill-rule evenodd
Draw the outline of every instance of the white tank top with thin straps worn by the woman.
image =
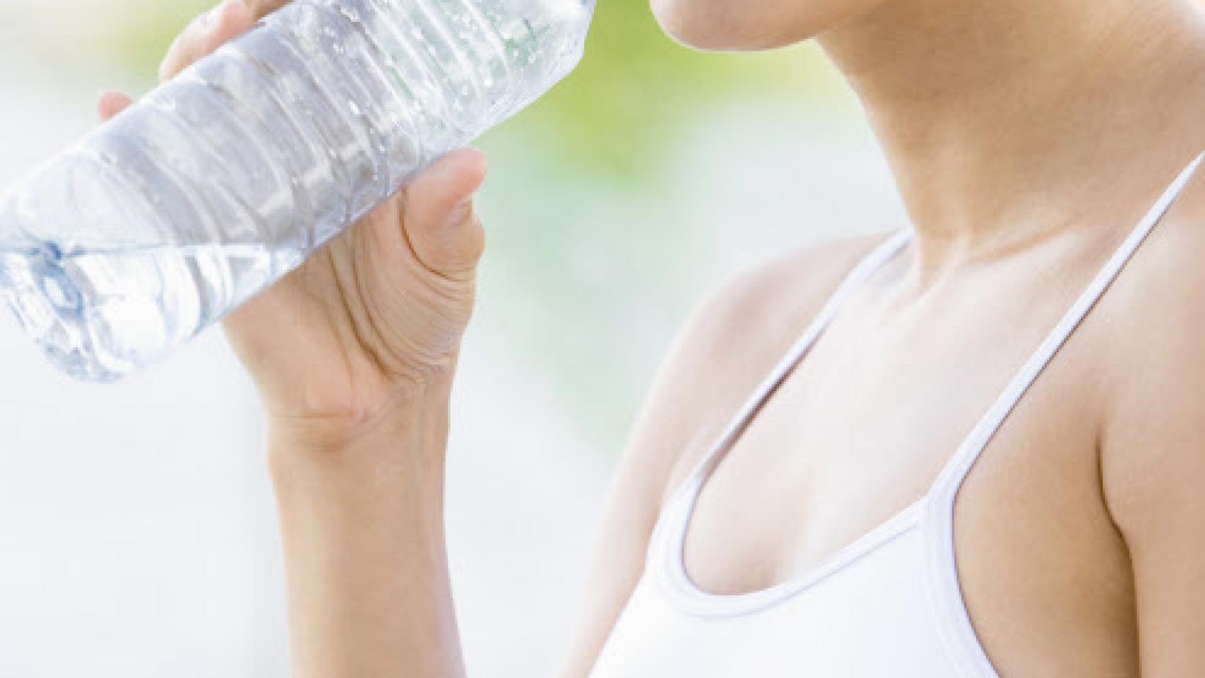
<svg viewBox="0 0 1205 678">
<path fill-rule="evenodd" d="M 592 678 L 997 678 L 963 605 L 954 496 L 1005 417 L 1100 299 L 1201 163 L 1166 189 L 1038 347 L 916 503 L 798 577 L 742 595 L 700 590 L 682 547 L 704 482 L 841 302 L 911 238 L 901 230 L 845 278 L 662 511 L 645 572 Z"/>
</svg>

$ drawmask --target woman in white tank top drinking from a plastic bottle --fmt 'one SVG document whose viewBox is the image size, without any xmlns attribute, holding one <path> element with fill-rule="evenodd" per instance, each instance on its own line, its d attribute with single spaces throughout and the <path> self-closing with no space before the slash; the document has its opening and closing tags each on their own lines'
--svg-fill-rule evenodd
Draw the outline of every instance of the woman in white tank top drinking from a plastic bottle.
<svg viewBox="0 0 1205 678">
<path fill-rule="evenodd" d="M 163 75 L 272 8 L 194 22 Z M 1205 673 L 1198 8 L 654 10 L 703 48 L 819 40 L 913 229 L 768 264 L 696 313 L 564 676 Z M 227 322 L 271 421 L 296 676 L 463 673 L 441 505 L 483 175 L 451 154 Z"/>
</svg>

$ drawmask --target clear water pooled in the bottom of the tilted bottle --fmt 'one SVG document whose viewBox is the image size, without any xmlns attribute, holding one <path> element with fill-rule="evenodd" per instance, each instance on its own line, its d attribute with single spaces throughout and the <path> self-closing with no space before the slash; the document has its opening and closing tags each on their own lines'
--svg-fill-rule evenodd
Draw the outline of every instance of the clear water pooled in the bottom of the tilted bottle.
<svg viewBox="0 0 1205 678">
<path fill-rule="evenodd" d="M 0 250 L 0 296 L 72 377 L 112 382 L 161 359 L 302 258 L 259 244 L 61 252 L 47 242 Z"/>
</svg>

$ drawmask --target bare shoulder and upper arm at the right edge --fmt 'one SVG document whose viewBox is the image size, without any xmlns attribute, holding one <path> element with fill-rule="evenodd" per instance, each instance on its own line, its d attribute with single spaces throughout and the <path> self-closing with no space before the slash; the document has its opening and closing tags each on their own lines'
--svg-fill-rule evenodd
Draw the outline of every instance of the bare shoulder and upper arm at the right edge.
<svg viewBox="0 0 1205 678">
<path fill-rule="evenodd" d="M 1109 325 L 1110 353 L 1100 360 L 1109 397 L 1100 483 L 1129 549 L 1145 678 L 1205 676 L 1200 185 L 1189 184 L 1110 293 L 1125 320 Z"/>
</svg>

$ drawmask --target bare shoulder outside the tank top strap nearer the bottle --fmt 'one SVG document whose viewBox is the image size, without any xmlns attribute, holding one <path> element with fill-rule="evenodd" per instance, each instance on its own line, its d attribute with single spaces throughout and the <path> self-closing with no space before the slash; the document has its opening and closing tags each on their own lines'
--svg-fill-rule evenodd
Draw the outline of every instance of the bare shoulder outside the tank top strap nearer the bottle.
<svg viewBox="0 0 1205 678">
<path fill-rule="evenodd" d="M 633 438 L 669 493 L 806 329 L 841 279 L 887 234 L 776 257 L 718 285 L 684 323 Z"/>
</svg>

